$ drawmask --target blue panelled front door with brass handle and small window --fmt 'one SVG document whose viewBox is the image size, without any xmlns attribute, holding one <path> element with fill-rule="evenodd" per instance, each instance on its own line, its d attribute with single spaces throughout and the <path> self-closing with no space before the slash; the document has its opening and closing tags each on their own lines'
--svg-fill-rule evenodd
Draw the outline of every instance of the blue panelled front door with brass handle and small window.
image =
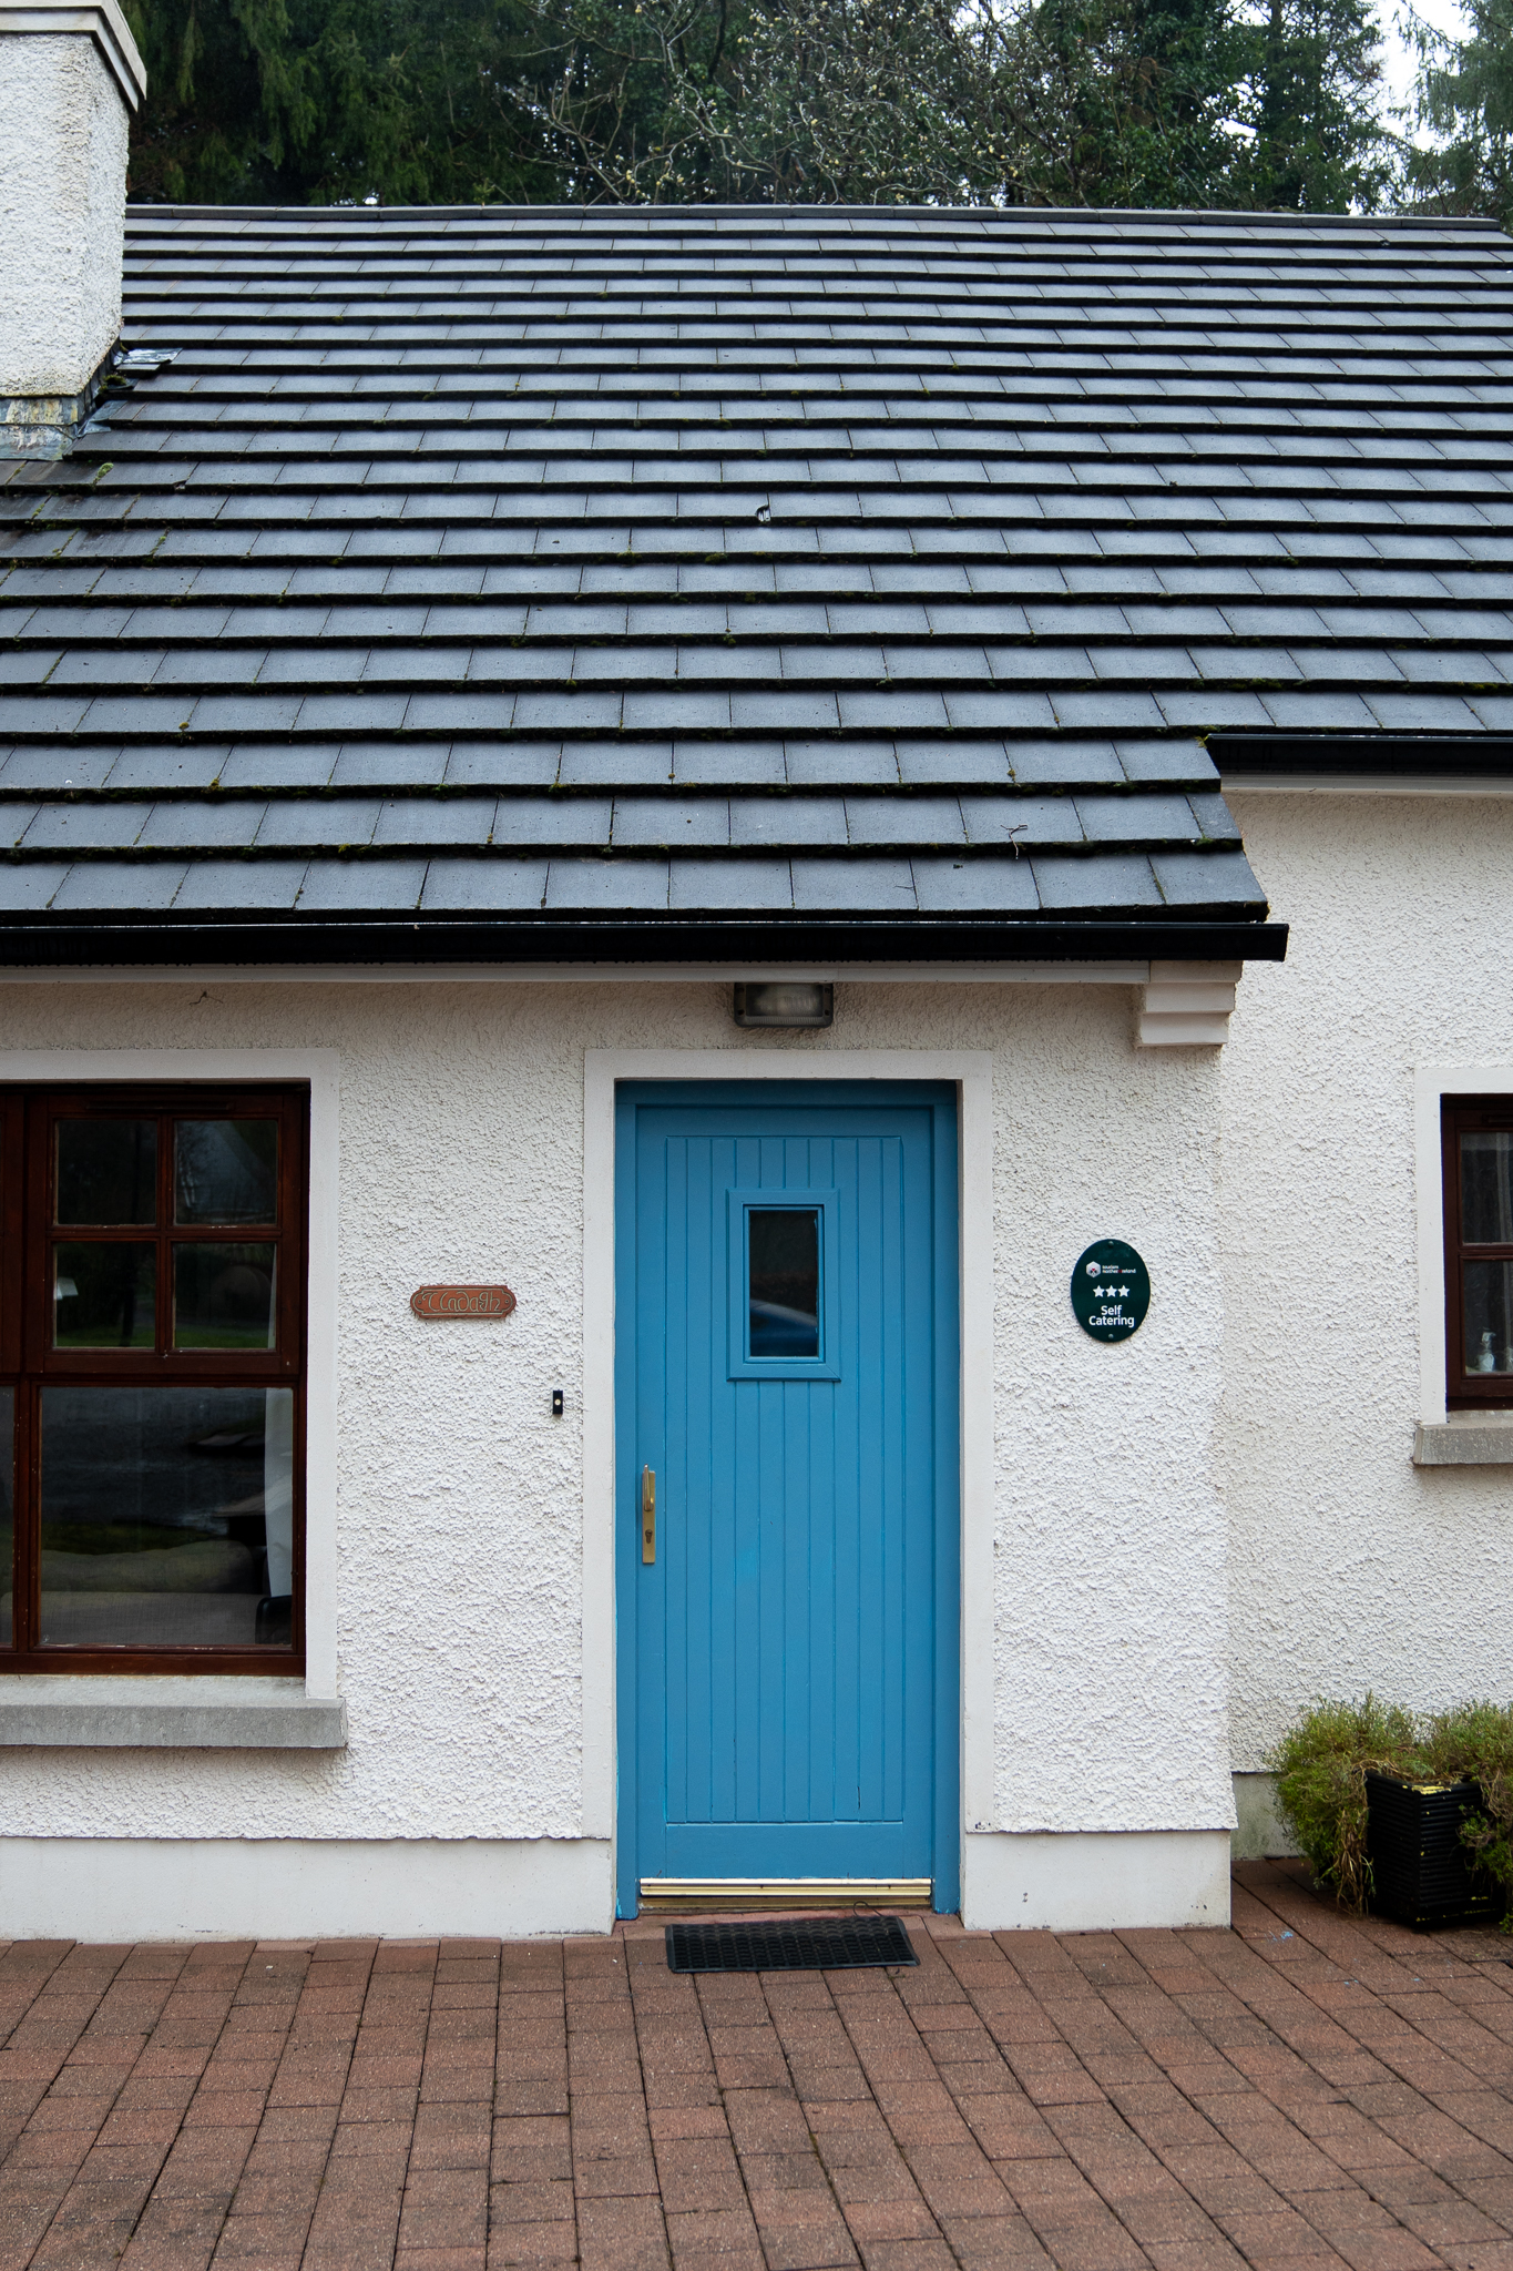
<svg viewBox="0 0 1513 2271">
<path fill-rule="evenodd" d="M 955 1097 L 626 1088 L 617 1224 L 622 1912 L 644 1878 L 953 1908 Z"/>
</svg>

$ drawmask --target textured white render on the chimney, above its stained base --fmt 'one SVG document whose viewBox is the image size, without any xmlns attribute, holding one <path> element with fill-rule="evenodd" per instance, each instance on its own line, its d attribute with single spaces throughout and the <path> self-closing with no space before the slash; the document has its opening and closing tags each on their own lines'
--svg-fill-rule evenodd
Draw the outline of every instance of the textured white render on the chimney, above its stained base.
<svg viewBox="0 0 1513 2271">
<path fill-rule="evenodd" d="M 68 397 L 120 334 L 127 102 L 88 30 L 7 18 L 0 0 L 0 397 Z"/>
</svg>

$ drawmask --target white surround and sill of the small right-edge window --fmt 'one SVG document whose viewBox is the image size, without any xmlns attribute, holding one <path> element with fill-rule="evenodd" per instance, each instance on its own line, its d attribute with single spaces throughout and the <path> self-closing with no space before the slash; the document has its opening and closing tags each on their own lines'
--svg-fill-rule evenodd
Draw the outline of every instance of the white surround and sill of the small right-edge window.
<svg viewBox="0 0 1513 2271">
<path fill-rule="evenodd" d="M 1418 1210 L 1415 1467 L 1513 1465 L 1513 1408 L 1445 1410 L 1445 1097 L 1513 1097 L 1513 1065 L 1418 1065 L 1413 1072 L 1413 1190 Z"/>
</svg>

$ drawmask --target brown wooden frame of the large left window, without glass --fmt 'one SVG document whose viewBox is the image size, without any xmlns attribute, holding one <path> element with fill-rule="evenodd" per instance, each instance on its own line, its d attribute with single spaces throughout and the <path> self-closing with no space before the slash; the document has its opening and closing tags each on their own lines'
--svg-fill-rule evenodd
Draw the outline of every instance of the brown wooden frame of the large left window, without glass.
<svg viewBox="0 0 1513 2271">
<path fill-rule="evenodd" d="M 54 1222 L 57 1120 L 159 1122 L 152 1226 L 59 1226 Z M 172 1199 L 172 1122 L 277 1117 L 279 1220 L 263 1224 L 179 1224 Z M 16 1671 L 304 1671 L 304 1426 L 308 1272 L 308 1088 L 290 1083 L 50 1083 L 0 1088 L 0 1388 L 14 1390 L 14 1644 L 0 1644 L 0 1674 Z M 52 1245 L 138 1240 L 157 1247 L 152 1349 L 52 1347 Z M 277 1245 L 274 1347 L 175 1349 L 172 1247 Z M 79 1388 L 206 1385 L 293 1390 L 293 1572 L 288 1644 L 39 1644 L 41 1628 L 41 1392 Z"/>
</svg>

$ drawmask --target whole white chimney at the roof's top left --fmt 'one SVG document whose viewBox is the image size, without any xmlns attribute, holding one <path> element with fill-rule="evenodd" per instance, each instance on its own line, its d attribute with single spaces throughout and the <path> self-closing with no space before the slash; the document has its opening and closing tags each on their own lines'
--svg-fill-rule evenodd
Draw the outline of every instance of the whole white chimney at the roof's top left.
<svg viewBox="0 0 1513 2271">
<path fill-rule="evenodd" d="M 116 0 L 0 0 L 0 456 L 61 456 L 116 352 L 145 91 Z"/>
</svg>

